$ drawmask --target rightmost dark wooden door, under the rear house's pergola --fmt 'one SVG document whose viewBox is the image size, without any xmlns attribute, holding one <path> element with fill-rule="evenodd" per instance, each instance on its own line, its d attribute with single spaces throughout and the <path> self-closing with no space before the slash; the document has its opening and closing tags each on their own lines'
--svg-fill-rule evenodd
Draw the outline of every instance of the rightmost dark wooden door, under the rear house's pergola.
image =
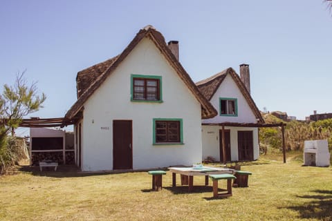
<svg viewBox="0 0 332 221">
<path fill-rule="evenodd" d="M 238 131 L 237 144 L 239 150 L 239 161 L 254 160 L 254 144 L 252 131 Z"/>
</svg>

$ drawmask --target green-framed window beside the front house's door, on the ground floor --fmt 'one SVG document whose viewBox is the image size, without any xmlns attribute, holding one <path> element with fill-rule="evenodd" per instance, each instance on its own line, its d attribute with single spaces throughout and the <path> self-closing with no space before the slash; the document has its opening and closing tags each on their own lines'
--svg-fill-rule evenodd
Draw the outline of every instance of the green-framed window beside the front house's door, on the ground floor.
<svg viewBox="0 0 332 221">
<path fill-rule="evenodd" d="M 154 119 L 154 144 L 182 143 L 182 119 Z"/>
</svg>

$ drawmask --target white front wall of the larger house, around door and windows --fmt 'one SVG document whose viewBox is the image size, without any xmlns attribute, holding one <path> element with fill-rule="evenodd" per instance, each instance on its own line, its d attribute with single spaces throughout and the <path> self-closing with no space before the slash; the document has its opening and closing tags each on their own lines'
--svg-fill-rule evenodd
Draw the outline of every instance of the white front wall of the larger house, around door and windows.
<svg viewBox="0 0 332 221">
<path fill-rule="evenodd" d="M 163 103 L 131 102 L 131 74 L 162 76 Z M 154 118 L 183 119 L 184 144 L 153 145 Z M 201 162 L 201 104 L 149 39 L 142 39 L 84 104 L 83 171 L 113 169 L 115 119 L 133 122 L 133 169 Z"/>
</svg>

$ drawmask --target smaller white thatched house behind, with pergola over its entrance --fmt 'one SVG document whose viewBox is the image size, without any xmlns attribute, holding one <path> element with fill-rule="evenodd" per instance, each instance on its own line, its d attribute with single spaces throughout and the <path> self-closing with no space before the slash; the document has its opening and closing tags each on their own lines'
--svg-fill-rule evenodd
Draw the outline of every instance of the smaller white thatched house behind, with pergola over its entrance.
<svg viewBox="0 0 332 221">
<path fill-rule="evenodd" d="M 241 64 L 240 75 L 241 79 L 228 68 L 196 83 L 218 111 L 215 117 L 203 119 L 203 159 L 213 157 L 221 162 L 233 162 L 259 157 L 258 124 L 264 123 L 264 119 L 250 96 L 247 64 Z"/>
</svg>

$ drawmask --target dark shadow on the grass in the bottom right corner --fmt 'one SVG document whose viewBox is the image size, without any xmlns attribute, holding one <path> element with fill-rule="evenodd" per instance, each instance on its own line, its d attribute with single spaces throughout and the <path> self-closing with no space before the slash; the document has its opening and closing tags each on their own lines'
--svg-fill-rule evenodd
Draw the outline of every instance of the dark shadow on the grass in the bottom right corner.
<svg viewBox="0 0 332 221">
<path fill-rule="evenodd" d="M 286 209 L 299 212 L 299 218 L 332 220 L 332 191 L 315 190 L 315 195 L 297 195 L 298 198 L 311 199 L 302 206 L 288 206 Z"/>
</svg>

